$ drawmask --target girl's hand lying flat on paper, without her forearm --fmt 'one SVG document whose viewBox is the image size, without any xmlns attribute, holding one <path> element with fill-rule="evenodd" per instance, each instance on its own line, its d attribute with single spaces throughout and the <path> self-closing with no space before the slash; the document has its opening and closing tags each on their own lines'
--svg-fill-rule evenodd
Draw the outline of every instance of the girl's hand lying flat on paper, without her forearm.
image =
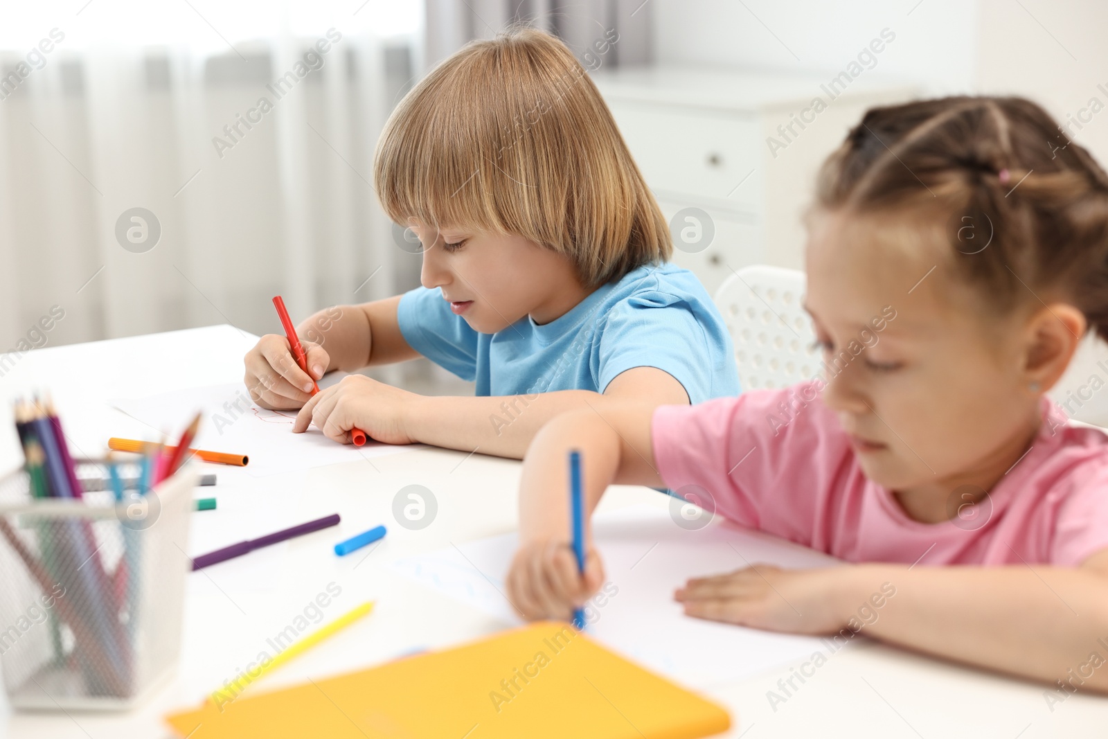
<svg viewBox="0 0 1108 739">
<path fill-rule="evenodd" d="M 781 569 L 756 564 L 726 575 L 695 577 L 674 598 L 697 618 L 793 634 L 833 634 L 858 603 L 851 598 L 851 567 Z M 845 607 L 844 607 L 845 606 Z"/>
</svg>

